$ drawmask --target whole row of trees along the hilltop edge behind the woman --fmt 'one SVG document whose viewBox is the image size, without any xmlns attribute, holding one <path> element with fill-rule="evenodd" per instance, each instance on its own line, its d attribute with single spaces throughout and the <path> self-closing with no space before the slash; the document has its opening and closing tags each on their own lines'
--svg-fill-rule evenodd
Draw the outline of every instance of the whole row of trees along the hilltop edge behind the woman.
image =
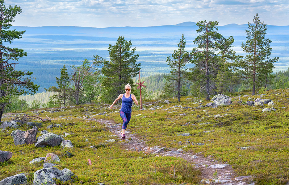
<svg viewBox="0 0 289 185">
<path fill-rule="evenodd" d="M 0 2 L 3 9 L 5 5 Z M 11 9 L 11 7 L 10 7 Z M 7 31 L 12 26 L 10 23 L 16 14 L 21 12 L 20 7 L 12 7 L 15 12 L 2 11 L 0 16 L 0 31 L 2 38 L 7 43 L 13 39 L 21 38 L 25 31 Z M 11 10 L 12 10 L 11 9 Z M 7 19 L 9 17 L 9 19 Z M 232 50 L 234 38 L 225 38 L 218 32 L 218 22 L 199 21 L 197 33 L 193 41 L 196 48 L 186 51 L 186 39 L 182 35 L 178 49 L 167 57 L 170 73 L 165 75 L 150 76 L 146 81 L 147 88 L 143 88 L 143 99 L 157 99 L 177 97 L 189 94 L 205 97 L 207 100 L 217 93 L 234 92 L 240 89 L 252 89 L 252 95 L 259 88 L 264 90 L 274 86 L 274 62 L 277 58 L 270 58 L 270 39 L 266 39 L 266 24 L 261 23 L 258 14 L 254 16 L 253 24 L 248 23 L 246 31 L 247 40 L 241 47 L 246 56 L 236 55 Z M 2 29 L 2 30 L 1 30 Z M 10 33 L 11 32 L 11 33 Z M 11 36 L 12 35 L 12 36 Z M 133 79 L 137 79 L 141 64 L 137 63 L 136 48 L 132 42 L 119 36 L 115 45 L 109 45 L 109 59 L 104 59 L 98 54 L 93 55 L 93 60 L 84 59 L 80 66 L 65 66 L 61 68 L 60 77 L 55 77 L 57 86 L 45 90 L 51 92 L 47 103 L 42 100 L 33 100 L 29 106 L 27 101 L 19 99 L 19 95 L 28 92 L 35 93 L 39 85 L 31 81 L 32 72 L 16 71 L 15 64 L 9 60 L 19 60 L 27 53 L 22 49 L 8 48 L 0 52 L 0 120 L 4 111 L 23 110 L 31 108 L 55 107 L 78 104 L 111 104 L 119 94 L 124 93 L 124 86 L 131 85 L 132 94 L 139 98 L 139 89 Z M 103 54 L 103 53 L 102 53 Z M 188 68 L 188 64 L 193 64 Z M 98 68 L 102 66 L 102 68 Z M 152 65 L 153 66 L 153 65 Z M 151 69 L 153 70 L 153 68 Z M 71 71 L 71 74 L 68 73 Z M 286 74 L 286 75 L 284 75 Z M 287 87 L 287 73 L 276 77 L 276 87 Z M 120 103 L 120 102 L 119 102 Z"/>
</svg>

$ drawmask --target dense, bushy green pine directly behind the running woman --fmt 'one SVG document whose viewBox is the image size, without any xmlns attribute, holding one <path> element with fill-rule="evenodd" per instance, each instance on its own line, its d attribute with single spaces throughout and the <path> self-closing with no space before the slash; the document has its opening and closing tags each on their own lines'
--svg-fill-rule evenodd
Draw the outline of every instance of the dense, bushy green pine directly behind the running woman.
<svg viewBox="0 0 289 185">
<path fill-rule="evenodd" d="M 140 68 L 140 64 L 136 64 L 139 57 L 135 54 L 136 48 L 132 48 L 132 42 L 126 41 L 124 37 L 119 36 L 115 45 L 109 45 L 108 53 L 110 60 L 102 60 L 99 64 L 103 64 L 101 69 L 104 75 L 102 87 L 104 89 L 103 101 L 112 102 L 119 94 L 124 93 L 124 86 L 130 84 L 132 93 L 137 93 L 133 80 Z"/>
</svg>

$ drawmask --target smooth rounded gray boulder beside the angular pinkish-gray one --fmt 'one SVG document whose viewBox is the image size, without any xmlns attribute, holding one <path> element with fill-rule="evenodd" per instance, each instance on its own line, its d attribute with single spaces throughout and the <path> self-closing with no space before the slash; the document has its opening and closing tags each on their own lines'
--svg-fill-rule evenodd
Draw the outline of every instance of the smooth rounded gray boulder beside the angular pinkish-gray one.
<svg viewBox="0 0 289 185">
<path fill-rule="evenodd" d="M 52 134 L 51 132 L 39 136 L 37 140 L 38 141 L 35 143 L 36 147 L 58 146 L 62 142 L 60 135 Z"/>
</svg>

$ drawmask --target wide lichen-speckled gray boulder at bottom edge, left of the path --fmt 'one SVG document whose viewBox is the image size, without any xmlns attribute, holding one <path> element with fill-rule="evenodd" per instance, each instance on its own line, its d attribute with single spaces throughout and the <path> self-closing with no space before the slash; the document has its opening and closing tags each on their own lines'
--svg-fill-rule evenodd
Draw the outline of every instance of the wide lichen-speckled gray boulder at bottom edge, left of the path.
<svg viewBox="0 0 289 185">
<path fill-rule="evenodd" d="M 75 175 L 72 173 L 72 171 L 66 168 L 64 168 L 62 171 L 60 171 L 56 167 L 43 168 L 41 170 L 37 170 L 34 173 L 33 185 L 39 184 L 52 185 L 56 183 L 56 181 L 53 180 L 53 178 L 60 180 L 62 182 L 68 180 L 71 181 L 73 176 Z"/>
</svg>

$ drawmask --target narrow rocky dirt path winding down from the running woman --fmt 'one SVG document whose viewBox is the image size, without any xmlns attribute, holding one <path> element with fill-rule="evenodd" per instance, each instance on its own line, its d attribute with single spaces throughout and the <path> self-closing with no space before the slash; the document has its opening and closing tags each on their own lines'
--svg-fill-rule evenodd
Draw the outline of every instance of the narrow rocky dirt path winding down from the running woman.
<svg viewBox="0 0 289 185">
<path fill-rule="evenodd" d="M 98 119 L 98 122 L 106 125 L 110 132 L 117 135 L 121 140 L 120 131 L 121 123 L 115 123 L 111 120 Z M 148 147 L 145 140 L 140 140 L 135 134 L 132 134 L 129 129 L 126 130 L 126 137 L 129 142 L 121 142 L 121 145 L 126 150 L 131 151 L 144 151 L 147 153 L 157 154 L 158 156 L 174 156 L 180 157 L 191 164 L 195 164 L 195 167 L 202 172 L 201 184 L 221 184 L 221 185 L 253 185 L 251 176 L 236 177 L 231 165 L 221 164 L 220 162 L 206 158 L 201 154 L 194 154 L 192 152 L 184 152 L 182 149 L 174 150 L 171 148 L 165 148 L 161 146 Z M 217 171 L 217 175 L 213 175 Z"/>
</svg>

